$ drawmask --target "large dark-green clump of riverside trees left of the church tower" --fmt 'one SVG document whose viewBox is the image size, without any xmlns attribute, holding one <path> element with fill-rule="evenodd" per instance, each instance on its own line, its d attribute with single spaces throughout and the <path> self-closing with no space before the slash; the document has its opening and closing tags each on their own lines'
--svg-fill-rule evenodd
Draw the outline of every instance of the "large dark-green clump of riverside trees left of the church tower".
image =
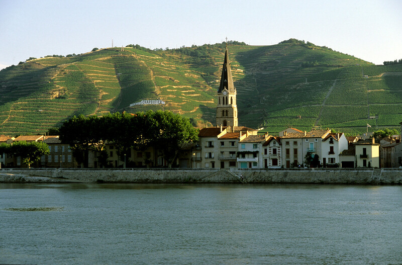
<svg viewBox="0 0 402 265">
<path fill-rule="evenodd" d="M 74 157 L 84 167 L 89 149 L 99 153 L 100 163 L 106 163 L 106 141 L 114 143 L 121 159 L 131 148 L 144 151 L 155 147 L 171 167 L 183 145 L 198 140 L 198 132 L 190 121 L 169 111 L 74 116 L 63 123 L 59 134 L 61 142 L 70 145 Z"/>
</svg>

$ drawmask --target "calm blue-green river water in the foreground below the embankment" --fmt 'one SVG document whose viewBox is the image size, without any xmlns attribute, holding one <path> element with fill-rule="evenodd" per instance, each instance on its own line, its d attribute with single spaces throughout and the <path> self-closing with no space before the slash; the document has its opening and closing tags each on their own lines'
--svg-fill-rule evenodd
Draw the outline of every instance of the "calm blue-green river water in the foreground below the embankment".
<svg viewBox="0 0 402 265">
<path fill-rule="evenodd" d="M 0 264 L 401 264 L 402 187 L 0 184 Z"/>
</svg>

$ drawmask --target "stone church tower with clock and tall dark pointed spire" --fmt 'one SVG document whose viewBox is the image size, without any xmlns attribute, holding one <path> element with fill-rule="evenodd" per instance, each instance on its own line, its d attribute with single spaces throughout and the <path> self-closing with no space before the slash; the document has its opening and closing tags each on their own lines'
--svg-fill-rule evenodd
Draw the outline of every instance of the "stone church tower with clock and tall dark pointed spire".
<svg viewBox="0 0 402 265">
<path fill-rule="evenodd" d="M 232 71 L 230 70 L 228 43 L 226 43 L 221 83 L 218 89 L 217 126 L 238 126 L 236 94 L 236 87 L 233 84 Z"/>
</svg>

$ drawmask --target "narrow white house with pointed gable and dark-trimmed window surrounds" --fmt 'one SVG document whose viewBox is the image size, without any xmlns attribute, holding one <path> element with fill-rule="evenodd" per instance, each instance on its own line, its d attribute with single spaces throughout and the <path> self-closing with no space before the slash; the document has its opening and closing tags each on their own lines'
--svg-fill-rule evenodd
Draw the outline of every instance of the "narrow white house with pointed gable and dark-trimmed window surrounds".
<svg viewBox="0 0 402 265">
<path fill-rule="evenodd" d="M 282 148 L 280 137 L 270 136 L 263 143 L 264 168 L 280 168 L 282 166 Z"/>
</svg>

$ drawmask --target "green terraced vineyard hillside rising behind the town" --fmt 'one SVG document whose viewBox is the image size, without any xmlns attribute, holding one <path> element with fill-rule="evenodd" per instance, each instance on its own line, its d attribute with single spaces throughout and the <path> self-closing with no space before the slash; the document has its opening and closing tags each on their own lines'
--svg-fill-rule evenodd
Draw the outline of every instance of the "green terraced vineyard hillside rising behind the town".
<svg viewBox="0 0 402 265">
<path fill-rule="evenodd" d="M 44 133 L 72 115 L 171 110 L 215 124 L 225 44 L 149 50 L 138 45 L 29 60 L 0 71 L 0 134 Z M 373 65 L 290 39 L 228 45 L 239 124 L 348 133 L 402 121 L 402 64 Z M 130 104 L 160 99 L 164 106 Z M 376 116 L 377 119 L 370 119 Z"/>
</svg>

